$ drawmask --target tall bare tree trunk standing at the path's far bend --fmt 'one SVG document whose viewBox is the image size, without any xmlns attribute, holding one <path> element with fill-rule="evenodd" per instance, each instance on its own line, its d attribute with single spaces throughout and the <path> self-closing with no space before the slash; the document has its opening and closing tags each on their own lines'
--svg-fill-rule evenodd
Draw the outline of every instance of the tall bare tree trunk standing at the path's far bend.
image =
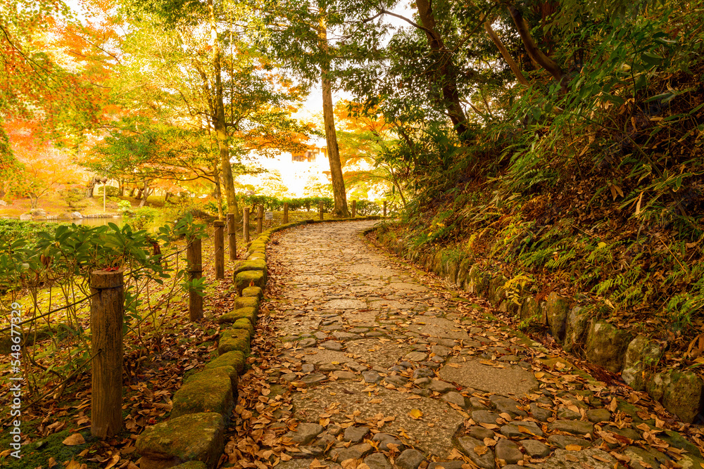
<svg viewBox="0 0 704 469">
<path fill-rule="evenodd" d="M 320 49 L 327 54 L 327 23 L 325 10 L 320 13 Z M 335 117 L 332 110 L 332 86 L 330 84 L 330 63 L 326 57 L 321 66 L 322 82 L 322 118 L 325 121 L 325 140 L 327 141 L 327 159 L 330 162 L 330 176 L 332 177 L 332 193 L 335 199 L 333 214 L 337 217 L 349 217 L 347 208 L 347 193 L 345 192 L 345 181 L 342 177 L 342 163 L 340 161 L 340 150 L 337 146 L 337 134 L 335 133 Z"/>
</svg>

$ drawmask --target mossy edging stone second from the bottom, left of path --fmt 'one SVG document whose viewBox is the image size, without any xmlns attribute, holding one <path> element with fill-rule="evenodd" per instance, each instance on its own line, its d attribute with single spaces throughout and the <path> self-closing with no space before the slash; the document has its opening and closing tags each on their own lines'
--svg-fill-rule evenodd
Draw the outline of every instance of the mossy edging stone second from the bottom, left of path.
<svg viewBox="0 0 704 469">
<path fill-rule="evenodd" d="M 232 380 L 227 370 L 220 367 L 191 376 L 174 394 L 171 416 L 216 412 L 227 419 L 233 408 Z"/>
</svg>

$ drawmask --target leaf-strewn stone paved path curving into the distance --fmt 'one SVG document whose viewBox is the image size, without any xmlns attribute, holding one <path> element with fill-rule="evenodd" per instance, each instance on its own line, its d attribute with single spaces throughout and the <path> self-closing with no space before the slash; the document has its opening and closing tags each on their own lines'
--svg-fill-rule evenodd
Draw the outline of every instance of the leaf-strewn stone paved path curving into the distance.
<svg viewBox="0 0 704 469">
<path fill-rule="evenodd" d="M 704 468 L 697 430 L 365 245 L 369 226 L 275 236 L 282 366 L 270 381 L 291 390 L 300 422 L 279 468 Z"/>
</svg>

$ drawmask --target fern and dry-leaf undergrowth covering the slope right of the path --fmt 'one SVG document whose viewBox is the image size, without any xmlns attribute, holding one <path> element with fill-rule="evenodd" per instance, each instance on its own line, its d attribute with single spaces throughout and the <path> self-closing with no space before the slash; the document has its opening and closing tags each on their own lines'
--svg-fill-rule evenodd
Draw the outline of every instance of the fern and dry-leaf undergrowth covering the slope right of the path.
<svg viewBox="0 0 704 469">
<path fill-rule="evenodd" d="M 465 143 L 429 132 L 444 164 L 418 176 L 399 236 L 491 264 L 536 300 L 587 295 L 701 368 L 704 13 L 665 13 L 614 20 L 566 89 L 522 89 Z"/>
</svg>

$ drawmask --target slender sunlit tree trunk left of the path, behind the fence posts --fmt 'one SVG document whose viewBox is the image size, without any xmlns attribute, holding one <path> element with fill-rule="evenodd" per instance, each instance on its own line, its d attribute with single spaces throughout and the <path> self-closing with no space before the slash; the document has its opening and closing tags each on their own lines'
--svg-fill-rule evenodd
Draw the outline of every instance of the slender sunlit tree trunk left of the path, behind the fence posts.
<svg viewBox="0 0 704 469">
<path fill-rule="evenodd" d="M 230 146 L 227 143 L 225 101 L 222 98 L 220 41 L 218 41 L 213 0 L 208 0 L 208 15 L 210 19 L 210 41 L 213 47 L 213 74 L 215 75 L 215 82 L 213 83 L 213 129 L 215 129 L 215 139 L 218 141 L 218 149 L 220 150 L 220 166 L 222 181 L 225 183 L 225 195 L 227 196 L 227 212 L 234 214 L 234 218 L 239 220 L 239 207 L 237 207 L 237 198 L 234 196 L 234 178 L 232 177 L 232 165 L 230 165 Z"/>
</svg>

